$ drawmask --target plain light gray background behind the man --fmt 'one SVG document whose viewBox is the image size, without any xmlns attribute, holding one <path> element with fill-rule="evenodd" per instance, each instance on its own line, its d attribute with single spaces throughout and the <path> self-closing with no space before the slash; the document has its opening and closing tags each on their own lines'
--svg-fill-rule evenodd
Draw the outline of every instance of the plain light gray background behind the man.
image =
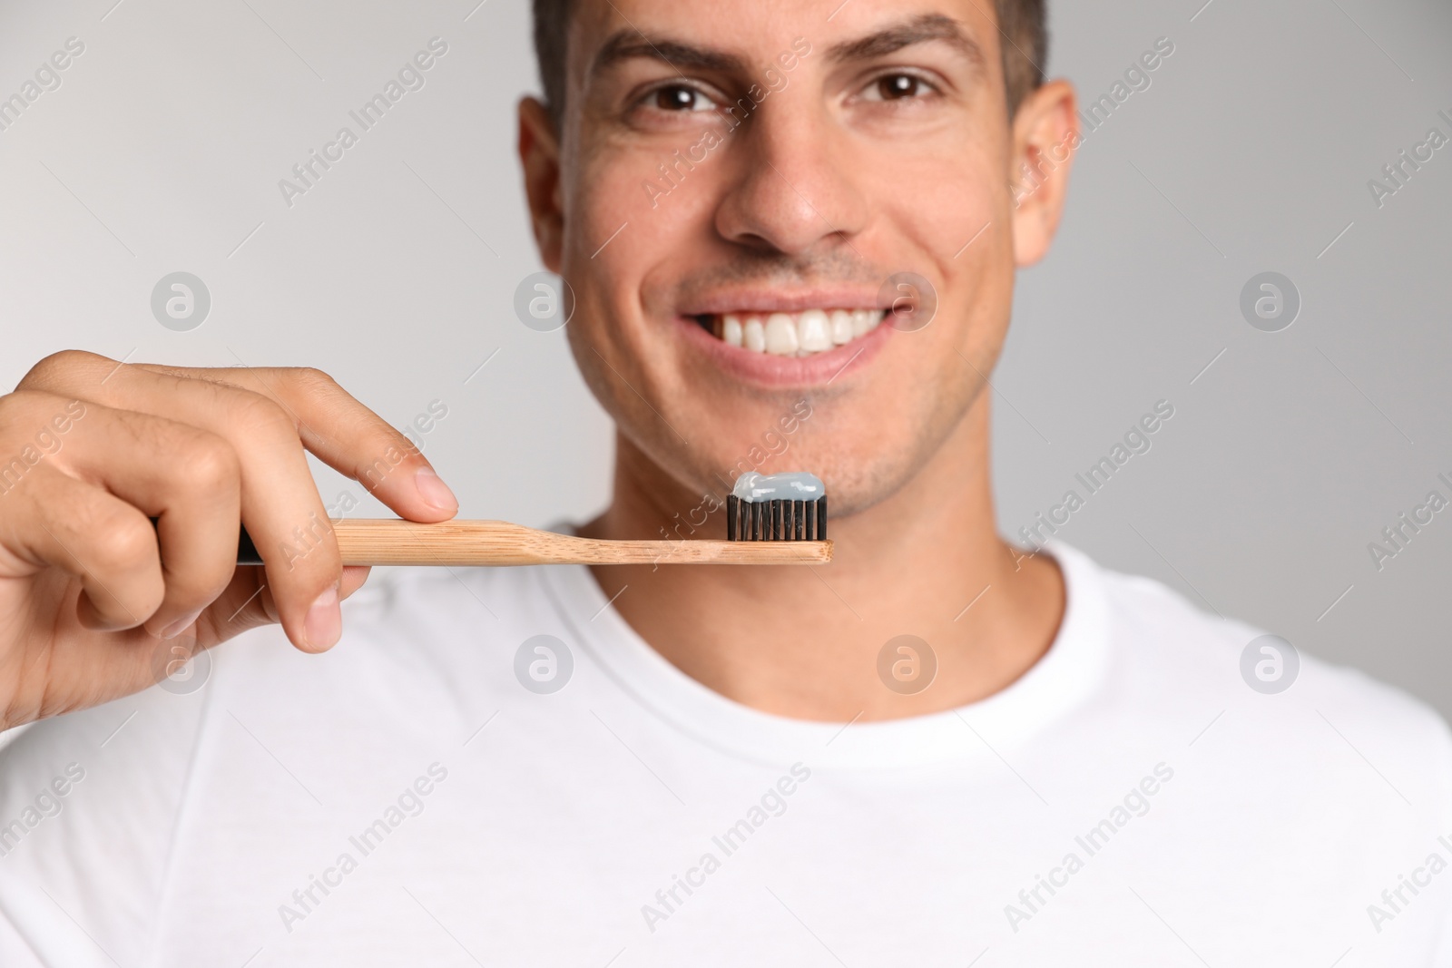
<svg viewBox="0 0 1452 968">
<path fill-rule="evenodd" d="M 1452 9 L 1202 1 L 1051 0 L 1050 68 L 1086 99 L 1157 38 L 1175 54 L 1089 136 L 1054 253 L 1021 274 L 1000 524 L 1169 399 L 1153 450 L 1060 537 L 1452 713 L 1452 509 L 1381 572 L 1366 547 L 1427 491 L 1452 498 L 1452 147 L 1381 209 L 1366 187 L 1452 135 Z M 447 403 L 425 451 L 466 517 L 598 509 L 610 424 L 563 334 L 511 309 L 539 268 L 514 158 L 529 9 L 476 3 L 6 0 L 0 97 L 67 38 L 86 52 L 0 132 L 0 386 L 64 347 L 318 366 L 399 425 Z M 436 35 L 427 86 L 289 209 L 279 179 Z M 177 270 L 212 293 L 192 332 L 150 311 Z M 1265 270 L 1304 300 L 1284 332 L 1239 311 Z"/>
</svg>

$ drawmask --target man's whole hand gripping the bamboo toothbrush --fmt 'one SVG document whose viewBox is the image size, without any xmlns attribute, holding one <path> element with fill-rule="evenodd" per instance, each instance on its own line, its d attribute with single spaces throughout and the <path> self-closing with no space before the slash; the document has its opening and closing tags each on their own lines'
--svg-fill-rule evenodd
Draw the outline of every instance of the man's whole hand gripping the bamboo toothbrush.
<svg viewBox="0 0 1452 968">
<path fill-rule="evenodd" d="M 305 451 L 411 521 L 457 511 L 318 370 L 65 351 L 0 396 L 0 729 L 144 689 L 192 637 L 280 621 L 303 652 L 333 646 L 367 569 L 343 567 Z M 238 522 L 264 566 L 237 567 Z"/>
</svg>

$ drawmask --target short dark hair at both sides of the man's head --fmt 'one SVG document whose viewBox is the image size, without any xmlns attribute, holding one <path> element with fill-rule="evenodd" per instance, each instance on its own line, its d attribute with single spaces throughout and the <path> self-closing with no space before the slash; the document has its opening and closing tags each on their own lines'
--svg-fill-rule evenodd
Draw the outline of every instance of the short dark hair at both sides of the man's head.
<svg viewBox="0 0 1452 968">
<path fill-rule="evenodd" d="M 544 104 L 559 126 L 565 110 L 565 48 L 575 0 L 533 1 L 534 55 L 539 58 L 540 83 L 544 86 Z M 1044 83 L 1048 25 L 1044 22 L 1044 0 L 995 0 L 995 6 L 1003 35 L 1003 84 L 1012 116 L 1019 103 Z"/>
</svg>

